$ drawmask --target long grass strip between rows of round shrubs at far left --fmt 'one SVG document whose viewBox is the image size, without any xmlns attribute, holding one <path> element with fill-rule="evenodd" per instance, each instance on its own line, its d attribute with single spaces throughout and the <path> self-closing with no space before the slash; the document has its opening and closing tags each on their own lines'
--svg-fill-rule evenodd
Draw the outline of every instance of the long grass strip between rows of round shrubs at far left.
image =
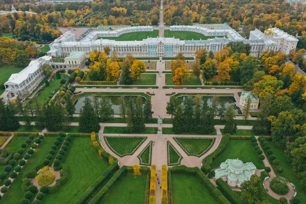
<svg viewBox="0 0 306 204">
<path fill-rule="evenodd" d="M 25 139 L 25 137 L 22 137 Z M 22 168 L 9 190 L 2 197 L 0 203 L 20 203 L 20 200 L 24 197 L 24 193 L 21 190 L 22 177 L 24 172 L 32 170 L 36 165 L 41 164 L 46 158 L 50 147 L 53 145 L 55 137 L 45 137 L 41 144 L 38 145 L 37 151 L 28 160 L 27 164 Z"/>
</svg>

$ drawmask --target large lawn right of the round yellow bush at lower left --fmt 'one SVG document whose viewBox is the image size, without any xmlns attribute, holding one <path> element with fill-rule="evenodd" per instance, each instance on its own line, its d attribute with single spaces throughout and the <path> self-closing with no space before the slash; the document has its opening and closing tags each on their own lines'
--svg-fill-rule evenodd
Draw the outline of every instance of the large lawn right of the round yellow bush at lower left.
<svg viewBox="0 0 306 204">
<path fill-rule="evenodd" d="M 90 138 L 72 138 L 66 152 L 69 181 L 53 195 L 46 195 L 45 204 L 72 204 L 107 169 L 108 162 L 101 159 L 90 143 Z"/>
</svg>

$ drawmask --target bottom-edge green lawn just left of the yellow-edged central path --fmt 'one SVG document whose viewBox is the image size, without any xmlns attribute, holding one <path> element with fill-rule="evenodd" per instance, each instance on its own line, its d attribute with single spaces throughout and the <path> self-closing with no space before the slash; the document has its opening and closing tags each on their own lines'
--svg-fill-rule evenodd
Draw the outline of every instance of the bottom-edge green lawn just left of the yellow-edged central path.
<svg viewBox="0 0 306 204">
<path fill-rule="evenodd" d="M 146 175 L 124 175 L 100 204 L 143 204 L 146 182 Z"/>
</svg>

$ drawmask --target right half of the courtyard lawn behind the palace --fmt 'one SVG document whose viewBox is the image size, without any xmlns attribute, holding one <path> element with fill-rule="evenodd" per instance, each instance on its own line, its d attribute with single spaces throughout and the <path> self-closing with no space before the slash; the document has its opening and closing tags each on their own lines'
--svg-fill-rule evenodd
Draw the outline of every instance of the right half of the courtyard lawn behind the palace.
<svg viewBox="0 0 306 204">
<path fill-rule="evenodd" d="M 179 38 L 180 40 L 207 40 L 210 38 L 215 38 L 215 36 L 205 36 L 200 33 L 190 32 L 190 31 L 170 31 L 165 30 L 165 38 Z M 223 38 L 223 36 L 217 36 Z"/>
</svg>

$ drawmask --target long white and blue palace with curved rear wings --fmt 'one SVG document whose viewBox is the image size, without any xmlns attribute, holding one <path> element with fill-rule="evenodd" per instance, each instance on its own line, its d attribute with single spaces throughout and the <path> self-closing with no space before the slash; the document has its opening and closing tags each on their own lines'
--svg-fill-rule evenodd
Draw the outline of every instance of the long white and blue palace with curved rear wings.
<svg viewBox="0 0 306 204">
<path fill-rule="evenodd" d="M 152 31 L 153 27 L 151 26 L 125 27 L 103 31 L 94 30 L 80 41 L 74 39 L 73 33 L 67 32 L 49 45 L 50 50 L 47 54 L 50 57 L 66 57 L 71 52 L 85 52 L 86 57 L 89 57 L 90 51 L 104 52 L 104 47 L 109 46 L 111 54 L 112 52 L 117 52 L 119 57 L 125 57 L 127 54 L 132 54 L 135 57 L 173 57 L 179 53 L 183 53 L 186 57 L 194 57 L 198 49 L 205 48 L 216 53 L 229 42 L 242 41 L 250 44 L 250 55 L 260 56 L 267 50 L 282 51 L 287 54 L 288 50 L 296 48 L 298 41 L 293 36 L 274 28 L 273 32 L 265 32 L 263 35 L 259 33 L 260 31 L 255 30 L 251 32 L 249 39 L 244 39 L 227 24 L 174 25 L 170 27 L 170 31 L 174 32 L 196 32 L 212 37 L 211 39 L 203 40 L 181 40 L 174 38 L 174 36 L 173 38 L 148 37 L 142 41 L 103 39 L 104 37 L 118 37 L 125 33 Z"/>
</svg>

